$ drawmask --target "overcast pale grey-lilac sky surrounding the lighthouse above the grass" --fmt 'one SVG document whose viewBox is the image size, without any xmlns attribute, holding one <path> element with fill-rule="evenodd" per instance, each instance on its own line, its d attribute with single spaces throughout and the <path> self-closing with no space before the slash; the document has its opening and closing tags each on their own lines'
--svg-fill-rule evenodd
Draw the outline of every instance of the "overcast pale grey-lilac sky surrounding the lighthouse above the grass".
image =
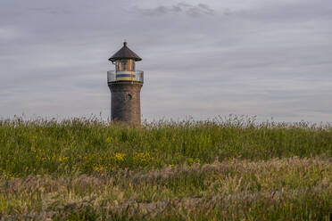
<svg viewBox="0 0 332 221">
<path fill-rule="evenodd" d="M 108 58 L 143 61 L 143 119 L 332 121 L 330 0 L 1 0 L 0 119 L 110 117 Z"/>
</svg>

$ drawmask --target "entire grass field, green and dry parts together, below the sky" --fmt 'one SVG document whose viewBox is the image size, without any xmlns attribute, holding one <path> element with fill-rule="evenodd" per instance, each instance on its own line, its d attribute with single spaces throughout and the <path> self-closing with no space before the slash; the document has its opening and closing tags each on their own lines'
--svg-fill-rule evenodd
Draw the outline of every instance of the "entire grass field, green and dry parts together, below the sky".
<svg viewBox="0 0 332 221">
<path fill-rule="evenodd" d="M 330 220 L 332 126 L 0 120 L 2 220 Z"/>
</svg>

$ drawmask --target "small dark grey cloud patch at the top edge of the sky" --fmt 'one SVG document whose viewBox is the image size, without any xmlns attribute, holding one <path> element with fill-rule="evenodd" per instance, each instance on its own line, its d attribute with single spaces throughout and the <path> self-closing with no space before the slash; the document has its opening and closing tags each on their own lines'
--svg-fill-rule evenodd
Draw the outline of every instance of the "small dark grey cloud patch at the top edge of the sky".
<svg viewBox="0 0 332 221">
<path fill-rule="evenodd" d="M 187 14 L 191 17 L 199 17 L 202 15 L 211 15 L 214 10 L 208 4 L 187 4 L 181 2 L 178 4 L 172 4 L 170 6 L 160 5 L 151 9 L 138 9 L 144 15 L 147 16 L 158 16 L 161 14 Z"/>
</svg>

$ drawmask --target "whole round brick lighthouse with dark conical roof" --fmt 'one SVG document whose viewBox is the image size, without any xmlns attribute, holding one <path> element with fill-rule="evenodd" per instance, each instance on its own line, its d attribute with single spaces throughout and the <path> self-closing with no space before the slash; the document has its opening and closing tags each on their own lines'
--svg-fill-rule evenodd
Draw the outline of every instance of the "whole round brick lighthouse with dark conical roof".
<svg viewBox="0 0 332 221">
<path fill-rule="evenodd" d="M 141 123 L 140 93 L 144 72 L 136 70 L 136 61 L 142 59 L 123 43 L 122 48 L 109 61 L 115 70 L 107 71 L 107 84 L 111 90 L 111 119 L 129 125 Z"/>
</svg>

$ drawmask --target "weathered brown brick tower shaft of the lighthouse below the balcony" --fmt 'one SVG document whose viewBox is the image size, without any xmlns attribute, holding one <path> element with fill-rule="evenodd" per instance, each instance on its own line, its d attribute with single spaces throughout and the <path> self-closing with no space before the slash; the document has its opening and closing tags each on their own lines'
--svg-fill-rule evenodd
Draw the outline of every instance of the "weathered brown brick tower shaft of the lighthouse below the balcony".
<svg viewBox="0 0 332 221">
<path fill-rule="evenodd" d="M 109 83 L 112 92 L 111 119 L 128 124 L 141 123 L 140 82 Z"/>
</svg>

